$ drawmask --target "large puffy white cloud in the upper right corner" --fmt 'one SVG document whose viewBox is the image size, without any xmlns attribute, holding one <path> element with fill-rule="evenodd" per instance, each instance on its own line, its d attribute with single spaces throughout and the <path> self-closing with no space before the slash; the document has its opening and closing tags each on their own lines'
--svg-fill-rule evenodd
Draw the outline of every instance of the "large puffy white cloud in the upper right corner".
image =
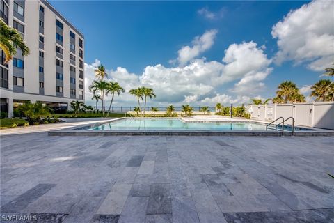
<svg viewBox="0 0 334 223">
<path fill-rule="evenodd" d="M 334 59 L 334 1 L 312 1 L 292 10 L 273 26 L 278 40 L 275 61 L 308 63 L 308 68 L 324 70 Z"/>
</svg>

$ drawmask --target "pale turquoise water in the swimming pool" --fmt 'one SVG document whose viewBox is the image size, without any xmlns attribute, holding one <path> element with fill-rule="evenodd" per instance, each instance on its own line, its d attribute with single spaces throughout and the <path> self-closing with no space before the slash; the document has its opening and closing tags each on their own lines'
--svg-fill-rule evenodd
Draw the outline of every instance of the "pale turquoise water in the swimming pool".
<svg viewBox="0 0 334 223">
<path fill-rule="evenodd" d="M 125 118 L 86 130 L 265 131 L 266 125 L 252 122 L 186 123 L 178 118 Z"/>
</svg>

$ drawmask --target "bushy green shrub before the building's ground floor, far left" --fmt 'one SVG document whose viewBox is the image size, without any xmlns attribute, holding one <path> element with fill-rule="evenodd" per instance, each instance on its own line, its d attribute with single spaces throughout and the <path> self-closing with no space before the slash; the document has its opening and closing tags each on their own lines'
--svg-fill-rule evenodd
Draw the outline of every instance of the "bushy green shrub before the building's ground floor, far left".
<svg viewBox="0 0 334 223">
<path fill-rule="evenodd" d="M 43 106 L 41 102 L 27 102 L 23 105 L 19 105 L 17 110 L 26 116 L 26 120 L 29 123 L 40 122 L 40 119 L 43 116 L 50 114 L 49 108 L 47 106 Z"/>
</svg>

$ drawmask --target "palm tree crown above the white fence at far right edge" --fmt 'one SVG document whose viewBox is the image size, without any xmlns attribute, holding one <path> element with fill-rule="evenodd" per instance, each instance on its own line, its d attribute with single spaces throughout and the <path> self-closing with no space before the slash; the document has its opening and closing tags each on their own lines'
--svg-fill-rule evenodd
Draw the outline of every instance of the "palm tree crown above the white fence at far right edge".
<svg viewBox="0 0 334 223">
<path fill-rule="evenodd" d="M 329 100 L 329 95 L 333 93 L 334 83 L 329 79 L 321 79 L 311 87 L 311 96 L 316 97 L 316 101 L 322 100 L 323 102 Z M 332 96 L 333 100 L 333 96 Z"/>
</svg>

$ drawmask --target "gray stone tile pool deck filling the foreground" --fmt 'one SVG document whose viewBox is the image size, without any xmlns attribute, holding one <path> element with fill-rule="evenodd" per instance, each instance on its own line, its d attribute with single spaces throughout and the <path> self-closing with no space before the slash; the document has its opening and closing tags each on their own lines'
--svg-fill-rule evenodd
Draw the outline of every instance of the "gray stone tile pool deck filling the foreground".
<svg viewBox="0 0 334 223">
<path fill-rule="evenodd" d="M 333 137 L 12 134 L 1 136 L 0 210 L 39 222 L 328 223 L 327 173 Z"/>
</svg>

